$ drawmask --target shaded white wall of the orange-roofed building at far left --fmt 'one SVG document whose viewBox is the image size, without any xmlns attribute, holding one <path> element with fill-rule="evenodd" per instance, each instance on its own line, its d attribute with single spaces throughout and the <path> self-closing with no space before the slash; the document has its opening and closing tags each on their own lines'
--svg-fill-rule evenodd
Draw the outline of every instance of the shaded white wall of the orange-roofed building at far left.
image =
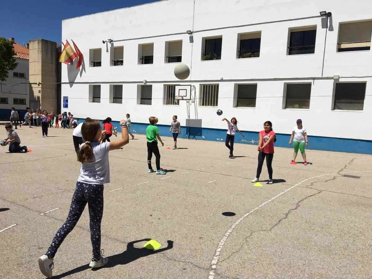
<svg viewBox="0 0 372 279">
<path fill-rule="evenodd" d="M 6 85 L 1 85 L 1 97 L 8 98 L 8 104 L 0 104 L 0 110 L 9 109 L 14 106 L 15 109 L 25 109 L 26 106 L 29 106 L 29 84 L 17 84 L 17 83 L 28 83 L 29 82 L 29 61 L 26 59 L 16 58 L 18 63 L 17 67 L 13 71 L 9 71 L 8 78 L 6 81 L 1 83 Z M 24 73 L 25 78 L 13 77 L 13 72 Z M 15 86 L 12 86 L 17 84 Z M 13 99 L 26 99 L 26 105 L 14 105 Z"/>
</svg>

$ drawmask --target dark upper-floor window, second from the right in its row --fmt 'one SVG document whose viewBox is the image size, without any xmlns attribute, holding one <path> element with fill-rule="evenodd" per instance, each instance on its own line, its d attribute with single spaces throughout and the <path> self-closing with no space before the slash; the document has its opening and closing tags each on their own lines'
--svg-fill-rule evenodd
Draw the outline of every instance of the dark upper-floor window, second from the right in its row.
<svg viewBox="0 0 372 279">
<path fill-rule="evenodd" d="M 314 53 L 316 35 L 316 27 L 292 29 L 289 36 L 288 55 Z"/>
</svg>

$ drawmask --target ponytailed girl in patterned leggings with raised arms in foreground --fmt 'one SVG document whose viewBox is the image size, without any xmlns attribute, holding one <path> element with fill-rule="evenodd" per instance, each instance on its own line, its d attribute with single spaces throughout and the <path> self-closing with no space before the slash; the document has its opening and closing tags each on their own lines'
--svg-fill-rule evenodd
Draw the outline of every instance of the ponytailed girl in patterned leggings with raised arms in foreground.
<svg viewBox="0 0 372 279">
<path fill-rule="evenodd" d="M 57 231 L 47 253 L 39 257 L 41 272 L 52 277 L 53 258 L 65 237 L 73 230 L 86 204 L 89 208 L 90 239 L 93 257 L 89 266 L 93 268 L 105 266 L 108 259 L 101 253 L 101 221 L 103 214 L 103 184 L 110 182 L 109 151 L 128 144 L 126 121 L 121 120 L 122 139 L 115 142 L 102 142 L 106 131 L 101 131 L 100 122 L 88 119 L 81 126 L 81 134 L 85 142 L 80 145 L 77 160 L 81 162 L 80 174 L 71 201 L 70 212 L 62 227 Z M 102 249 L 103 251 L 103 249 Z"/>
</svg>

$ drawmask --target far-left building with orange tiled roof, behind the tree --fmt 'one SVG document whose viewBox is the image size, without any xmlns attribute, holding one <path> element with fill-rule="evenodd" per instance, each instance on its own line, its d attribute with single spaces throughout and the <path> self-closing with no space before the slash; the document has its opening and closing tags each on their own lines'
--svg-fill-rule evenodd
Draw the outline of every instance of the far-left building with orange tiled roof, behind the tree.
<svg viewBox="0 0 372 279">
<path fill-rule="evenodd" d="M 18 63 L 13 71 L 9 71 L 6 81 L 1 82 L 0 89 L 0 119 L 9 119 L 12 107 L 23 114 L 29 106 L 29 49 L 13 42 L 15 58 Z"/>
</svg>

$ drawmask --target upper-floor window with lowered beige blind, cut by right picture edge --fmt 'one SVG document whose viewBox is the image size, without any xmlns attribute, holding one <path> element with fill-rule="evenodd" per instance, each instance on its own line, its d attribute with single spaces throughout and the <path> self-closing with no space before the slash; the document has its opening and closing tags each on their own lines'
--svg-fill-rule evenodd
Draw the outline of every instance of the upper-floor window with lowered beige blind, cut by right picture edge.
<svg viewBox="0 0 372 279">
<path fill-rule="evenodd" d="M 337 51 L 360 51 L 371 49 L 372 20 L 341 23 Z"/>
</svg>

